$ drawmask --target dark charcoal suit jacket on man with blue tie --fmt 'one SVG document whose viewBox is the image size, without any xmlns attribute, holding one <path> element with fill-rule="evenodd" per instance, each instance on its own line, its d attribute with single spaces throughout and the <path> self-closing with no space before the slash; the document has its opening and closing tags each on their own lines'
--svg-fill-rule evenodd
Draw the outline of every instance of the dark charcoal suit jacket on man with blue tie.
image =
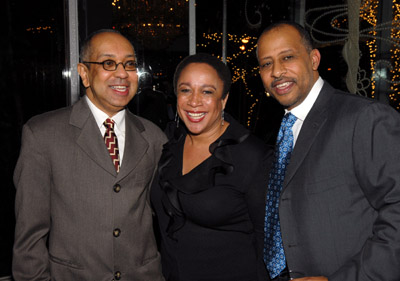
<svg viewBox="0 0 400 281">
<path fill-rule="evenodd" d="M 292 277 L 400 280 L 399 161 L 400 114 L 325 82 L 303 123 L 280 198 Z M 261 280 L 268 280 L 262 270 Z"/>
</svg>

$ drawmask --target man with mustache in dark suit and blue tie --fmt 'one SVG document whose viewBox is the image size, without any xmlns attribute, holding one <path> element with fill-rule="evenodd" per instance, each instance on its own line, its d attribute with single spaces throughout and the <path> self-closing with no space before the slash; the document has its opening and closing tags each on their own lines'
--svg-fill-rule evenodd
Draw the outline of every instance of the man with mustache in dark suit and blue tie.
<svg viewBox="0 0 400 281">
<path fill-rule="evenodd" d="M 264 267 L 264 280 L 400 280 L 399 113 L 324 82 L 299 25 L 268 27 L 257 56 L 265 89 L 296 117 L 277 201 L 286 268 Z"/>
</svg>

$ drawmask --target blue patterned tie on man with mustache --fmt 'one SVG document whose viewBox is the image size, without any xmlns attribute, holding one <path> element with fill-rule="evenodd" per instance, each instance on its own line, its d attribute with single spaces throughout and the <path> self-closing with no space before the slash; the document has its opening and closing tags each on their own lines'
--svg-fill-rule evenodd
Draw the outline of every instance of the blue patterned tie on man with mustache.
<svg viewBox="0 0 400 281">
<path fill-rule="evenodd" d="M 282 119 L 276 140 L 275 161 L 269 175 L 265 207 L 264 262 L 271 279 L 278 276 L 286 267 L 279 222 L 279 197 L 285 179 L 286 166 L 289 164 L 293 150 L 292 127 L 296 119 L 292 113 L 286 114 Z"/>
</svg>

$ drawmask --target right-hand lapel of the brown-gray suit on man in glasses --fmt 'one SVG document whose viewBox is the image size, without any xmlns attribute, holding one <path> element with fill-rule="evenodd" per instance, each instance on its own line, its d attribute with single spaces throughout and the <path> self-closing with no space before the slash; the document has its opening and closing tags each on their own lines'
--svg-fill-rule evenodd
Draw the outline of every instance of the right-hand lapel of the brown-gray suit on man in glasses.
<svg viewBox="0 0 400 281">
<path fill-rule="evenodd" d="M 125 116 L 125 151 L 118 178 L 126 177 L 146 154 L 149 144 L 142 137 L 143 124 L 128 110 Z"/>
</svg>

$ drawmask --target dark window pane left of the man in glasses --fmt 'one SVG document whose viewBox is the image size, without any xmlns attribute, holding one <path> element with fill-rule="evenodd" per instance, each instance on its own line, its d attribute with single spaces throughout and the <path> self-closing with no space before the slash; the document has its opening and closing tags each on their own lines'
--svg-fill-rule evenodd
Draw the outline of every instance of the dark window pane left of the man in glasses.
<svg viewBox="0 0 400 281">
<path fill-rule="evenodd" d="M 32 116 L 66 105 L 63 1 L 2 3 L 6 33 L 0 52 L 0 277 L 11 275 L 14 236 L 12 175 L 22 125 Z M 3 14 L 5 13 L 5 15 Z"/>
</svg>

